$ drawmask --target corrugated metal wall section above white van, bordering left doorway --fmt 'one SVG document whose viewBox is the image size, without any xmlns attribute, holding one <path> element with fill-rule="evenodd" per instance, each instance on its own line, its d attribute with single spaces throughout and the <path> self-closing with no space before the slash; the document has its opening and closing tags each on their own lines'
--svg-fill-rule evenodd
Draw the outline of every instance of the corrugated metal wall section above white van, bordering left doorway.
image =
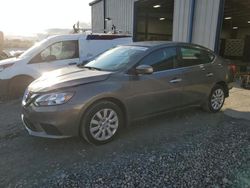
<svg viewBox="0 0 250 188">
<path fill-rule="evenodd" d="M 111 18 L 107 24 L 107 30 L 111 30 L 112 24 L 122 33 L 133 33 L 133 14 L 135 0 L 106 0 L 106 17 Z"/>
</svg>

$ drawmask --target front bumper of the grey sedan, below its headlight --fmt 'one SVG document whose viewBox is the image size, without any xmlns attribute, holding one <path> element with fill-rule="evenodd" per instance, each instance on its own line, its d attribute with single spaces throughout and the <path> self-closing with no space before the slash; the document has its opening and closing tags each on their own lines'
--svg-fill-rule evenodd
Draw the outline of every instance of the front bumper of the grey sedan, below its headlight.
<svg viewBox="0 0 250 188">
<path fill-rule="evenodd" d="M 22 121 L 32 136 L 69 138 L 79 135 L 80 110 L 74 105 L 22 108 Z"/>
</svg>

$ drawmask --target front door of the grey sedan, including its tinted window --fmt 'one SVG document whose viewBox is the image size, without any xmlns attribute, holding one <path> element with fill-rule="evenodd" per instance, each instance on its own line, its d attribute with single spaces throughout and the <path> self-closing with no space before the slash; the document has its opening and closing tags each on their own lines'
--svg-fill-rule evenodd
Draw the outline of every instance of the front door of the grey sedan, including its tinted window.
<svg viewBox="0 0 250 188">
<path fill-rule="evenodd" d="M 128 103 L 132 116 L 145 116 L 182 105 L 181 74 L 175 69 L 176 47 L 156 50 L 139 65 L 152 66 L 154 73 L 131 76 L 130 91 L 133 97 Z"/>
</svg>

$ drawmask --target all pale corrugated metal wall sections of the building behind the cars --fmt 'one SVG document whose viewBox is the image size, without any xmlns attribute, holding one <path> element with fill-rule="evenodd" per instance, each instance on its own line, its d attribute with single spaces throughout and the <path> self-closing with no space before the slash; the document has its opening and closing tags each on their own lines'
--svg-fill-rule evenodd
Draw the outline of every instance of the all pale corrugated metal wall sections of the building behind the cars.
<svg viewBox="0 0 250 188">
<path fill-rule="evenodd" d="M 133 33 L 134 2 L 136 0 L 106 0 L 107 30 L 112 24 L 123 33 Z M 220 0 L 196 0 L 193 20 L 192 42 L 215 48 L 216 30 Z M 190 16 L 192 0 L 175 0 L 173 40 L 189 41 Z M 103 32 L 104 28 L 103 1 L 92 6 L 92 28 L 94 32 Z"/>
</svg>

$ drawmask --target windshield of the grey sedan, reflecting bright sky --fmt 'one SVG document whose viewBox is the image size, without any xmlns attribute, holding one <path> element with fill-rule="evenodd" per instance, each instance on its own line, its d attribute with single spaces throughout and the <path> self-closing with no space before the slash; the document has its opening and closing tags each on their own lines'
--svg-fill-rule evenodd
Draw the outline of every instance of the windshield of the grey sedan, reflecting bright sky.
<svg viewBox="0 0 250 188">
<path fill-rule="evenodd" d="M 117 71 L 126 67 L 147 49 L 148 48 L 137 46 L 119 46 L 104 52 L 84 67 L 105 71 Z"/>
</svg>

